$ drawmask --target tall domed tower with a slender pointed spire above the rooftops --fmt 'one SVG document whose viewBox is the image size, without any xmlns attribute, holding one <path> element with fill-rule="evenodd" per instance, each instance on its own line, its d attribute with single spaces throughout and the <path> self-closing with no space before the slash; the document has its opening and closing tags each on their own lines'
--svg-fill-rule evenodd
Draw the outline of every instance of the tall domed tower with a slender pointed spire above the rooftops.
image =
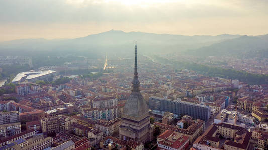
<svg viewBox="0 0 268 150">
<path fill-rule="evenodd" d="M 147 104 L 140 93 L 140 82 L 138 79 L 137 43 L 135 45 L 134 77 L 132 81 L 132 92 L 127 99 L 123 109 L 121 124 L 119 128 L 122 140 L 133 140 L 141 143 L 152 140 L 152 127 Z"/>
</svg>

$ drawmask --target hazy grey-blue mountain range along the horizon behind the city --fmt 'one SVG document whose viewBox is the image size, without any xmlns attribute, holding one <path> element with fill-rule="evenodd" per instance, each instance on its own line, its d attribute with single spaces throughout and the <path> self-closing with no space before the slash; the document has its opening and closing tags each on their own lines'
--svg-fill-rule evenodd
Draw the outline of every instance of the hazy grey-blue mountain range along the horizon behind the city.
<svg viewBox="0 0 268 150">
<path fill-rule="evenodd" d="M 2 55 L 66 54 L 103 57 L 109 55 L 132 55 L 137 41 L 140 53 L 168 53 L 186 51 L 194 55 L 219 55 L 241 50 L 262 50 L 268 47 L 268 35 L 241 36 L 222 34 L 218 36 L 184 36 L 123 32 L 111 30 L 75 39 L 20 39 L 0 43 Z"/>
</svg>

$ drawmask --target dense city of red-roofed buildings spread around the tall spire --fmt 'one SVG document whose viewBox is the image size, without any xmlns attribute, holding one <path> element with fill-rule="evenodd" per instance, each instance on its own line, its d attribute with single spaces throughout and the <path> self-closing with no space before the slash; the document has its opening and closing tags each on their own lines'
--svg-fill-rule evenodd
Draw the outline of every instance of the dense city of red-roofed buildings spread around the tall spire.
<svg viewBox="0 0 268 150">
<path fill-rule="evenodd" d="M 135 59 L 86 62 L 104 66 L 87 75 L 64 75 L 81 71 L 70 61 L 6 81 L 0 149 L 267 147 L 268 85 L 177 70 L 135 50 Z"/>
</svg>

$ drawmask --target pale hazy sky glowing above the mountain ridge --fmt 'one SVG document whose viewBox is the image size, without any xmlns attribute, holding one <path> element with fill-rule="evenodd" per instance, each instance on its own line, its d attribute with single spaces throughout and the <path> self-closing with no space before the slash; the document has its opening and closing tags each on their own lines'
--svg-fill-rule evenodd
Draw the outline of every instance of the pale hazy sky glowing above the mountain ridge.
<svg viewBox="0 0 268 150">
<path fill-rule="evenodd" d="M 182 35 L 268 33 L 268 0 L 0 0 L 0 41 L 108 30 Z"/>
</svg>

